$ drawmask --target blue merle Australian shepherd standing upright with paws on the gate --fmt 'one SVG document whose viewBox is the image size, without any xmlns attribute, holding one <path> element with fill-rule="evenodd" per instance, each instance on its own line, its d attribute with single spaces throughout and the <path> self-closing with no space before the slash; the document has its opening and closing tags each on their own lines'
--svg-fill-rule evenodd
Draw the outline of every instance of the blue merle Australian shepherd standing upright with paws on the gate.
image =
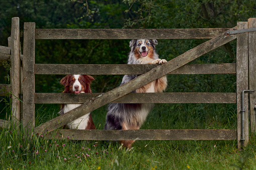
<svg viewBox="0 0 256 170">
<path fill-rule="evenodd" d="M 164 64 L 167 61 L 159 59 L 155 51 L 157 40 L 131 40 L 131 51 L 128 56 L 128 64 Z M 125 84 L 139 75 L 124 75 L 122 84 Z M 135 93 L 162 92 L 167 86 L 166 76 L 136 89 Z M 106 130 L 134 130 L 139 129 L 145 121 L 154 104 L 128 104 L 111 103 L 108 106 Z M 134 140 L 122 140 L 125 147 L 131 147 Z"/>
</svg>

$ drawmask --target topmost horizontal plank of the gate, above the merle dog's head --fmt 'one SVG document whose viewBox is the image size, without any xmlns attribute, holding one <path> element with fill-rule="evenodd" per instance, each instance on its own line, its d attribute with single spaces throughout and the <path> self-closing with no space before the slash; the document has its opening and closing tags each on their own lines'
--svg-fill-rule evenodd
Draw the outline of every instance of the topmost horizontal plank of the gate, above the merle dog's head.
<svg viewBox="0 0 256 170">
<path fill-rule="evenodd" d="M 212 39 L 228 28 L 36 29 L 36 39 Z"/>
</svg>

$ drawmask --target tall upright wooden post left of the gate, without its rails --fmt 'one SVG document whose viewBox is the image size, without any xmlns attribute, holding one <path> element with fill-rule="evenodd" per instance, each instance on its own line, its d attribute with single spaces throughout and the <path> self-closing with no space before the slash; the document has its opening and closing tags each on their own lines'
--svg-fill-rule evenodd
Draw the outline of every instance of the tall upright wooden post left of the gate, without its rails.
<svg viewBox="0 0 256 170">
<path fill-rule="evenodd" d="M 19 17 L 12 18 L 12 33 L 11 33 L 11 64 L 12 64 L 12 122 L 18 126 L 20 123 L 20 19 Z"/>
</svg>

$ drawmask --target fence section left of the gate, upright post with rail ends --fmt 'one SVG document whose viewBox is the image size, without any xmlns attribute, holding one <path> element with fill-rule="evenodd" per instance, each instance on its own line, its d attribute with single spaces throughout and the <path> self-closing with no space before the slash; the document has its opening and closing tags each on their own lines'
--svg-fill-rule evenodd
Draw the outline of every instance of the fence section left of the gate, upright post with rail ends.
<svg viewBox="0 0 256 170">
<path fill-rule="evenodd" d="M 0 96 L 12 97 L 12 122 L 19 125 L 21 113 L 21 44 L 20 44 L 20 19 L 12 18 L 11 37 L 8 38 L 9 47 L 0 46 L 0 62 L 11 59 L 11 84 L 0 84 Z M 0 127 L 6 126 L 9 122 L 0 120 Z"/>
</svg>

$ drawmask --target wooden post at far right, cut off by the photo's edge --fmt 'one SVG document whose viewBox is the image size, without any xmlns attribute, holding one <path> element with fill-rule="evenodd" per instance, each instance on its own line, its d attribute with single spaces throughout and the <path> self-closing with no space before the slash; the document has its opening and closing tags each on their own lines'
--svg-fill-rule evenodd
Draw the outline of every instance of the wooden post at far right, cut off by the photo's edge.
<svg viewBox="0 0 256 170">
<path fill-rule="evenodd" d="M 256 27 L 256 18 L 248 19 L 248 28 Z M 250 129 L 256 132 L 256 110 L 254 103 L 256 102 L 256 32 L 248 32 L 248 60 L 249 60 L 249 89 L 255 90 L 249 94 L 250 98 Z"/>
</svg>

